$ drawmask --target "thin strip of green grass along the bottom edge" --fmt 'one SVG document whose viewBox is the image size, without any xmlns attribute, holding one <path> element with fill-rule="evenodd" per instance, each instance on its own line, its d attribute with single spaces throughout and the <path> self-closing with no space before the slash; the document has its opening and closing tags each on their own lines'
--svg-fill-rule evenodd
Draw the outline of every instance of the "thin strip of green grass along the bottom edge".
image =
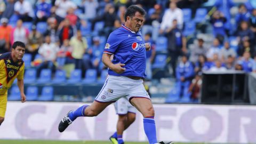
<svg viewBox="0 0 256 144">
<path fill-rule="evenodd" d="M 0 140 L 1 144 L 111 144 L 110 141 L 50 141 L 50 140 Z M 125 142 L 125 144 L 147 144 L 147 142 Z M 179 143 L 175 144 L 203 144 Z"/>
</svg>

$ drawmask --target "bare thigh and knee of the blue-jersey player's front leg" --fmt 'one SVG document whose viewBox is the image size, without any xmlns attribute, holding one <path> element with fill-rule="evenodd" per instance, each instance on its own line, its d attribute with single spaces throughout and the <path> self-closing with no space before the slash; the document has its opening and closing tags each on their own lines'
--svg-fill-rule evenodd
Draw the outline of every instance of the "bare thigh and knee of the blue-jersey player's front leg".
<svg viewBox="0 0 256 144">
<path fill-rule="evenodd" d="M 155 111 L 150 99 L 134 97 L 130 101 L 132 105 L 140 111 L 143 117 L 155 116 Z"/>
</svg>

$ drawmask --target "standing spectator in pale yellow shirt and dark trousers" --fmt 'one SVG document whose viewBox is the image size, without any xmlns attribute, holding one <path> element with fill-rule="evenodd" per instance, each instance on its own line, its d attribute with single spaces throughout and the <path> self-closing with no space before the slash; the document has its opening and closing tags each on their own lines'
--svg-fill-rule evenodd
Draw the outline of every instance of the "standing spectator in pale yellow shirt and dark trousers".
<svg viewBox="0 0 256 144">
<path fill-rule="evenodd" d="M 69 44 L 73 47 L 71 55 L 75 60 L 75 69 L 82 69 L 85 71 L 85 68 L 83 68 L 83 55 L 88 45 L 86 39 L 82 37 L 81 31 L 77 31 L 76 36 L 71 38 Z"/>
</svg>

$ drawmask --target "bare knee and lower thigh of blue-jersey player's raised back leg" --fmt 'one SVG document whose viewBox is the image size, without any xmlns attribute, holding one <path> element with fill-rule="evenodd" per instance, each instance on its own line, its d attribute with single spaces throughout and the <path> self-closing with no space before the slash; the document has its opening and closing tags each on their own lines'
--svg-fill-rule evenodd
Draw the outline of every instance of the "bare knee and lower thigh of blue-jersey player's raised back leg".
<svg viewBox="0 0 256 144">
<path fill-rule="evenodd" d="M 92 104 L 85 109 L 86 116 L 97 116 L 112 102 L 98 102 L 93 101 Z"/>
</svg>

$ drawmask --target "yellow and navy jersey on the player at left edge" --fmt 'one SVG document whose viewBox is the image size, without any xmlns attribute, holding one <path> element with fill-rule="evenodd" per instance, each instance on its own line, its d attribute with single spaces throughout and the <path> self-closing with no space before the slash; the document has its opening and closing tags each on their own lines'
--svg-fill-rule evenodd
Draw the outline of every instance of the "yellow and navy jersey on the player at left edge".
<svg viewBox="0 0 256 144">
<path fill-rule="evenodd" d="M 0 54 L 0 95 L 7 94 L 14 79 L 23 79 L 25 63 L 13 62 L 11 52 Z"/>
</svg>

